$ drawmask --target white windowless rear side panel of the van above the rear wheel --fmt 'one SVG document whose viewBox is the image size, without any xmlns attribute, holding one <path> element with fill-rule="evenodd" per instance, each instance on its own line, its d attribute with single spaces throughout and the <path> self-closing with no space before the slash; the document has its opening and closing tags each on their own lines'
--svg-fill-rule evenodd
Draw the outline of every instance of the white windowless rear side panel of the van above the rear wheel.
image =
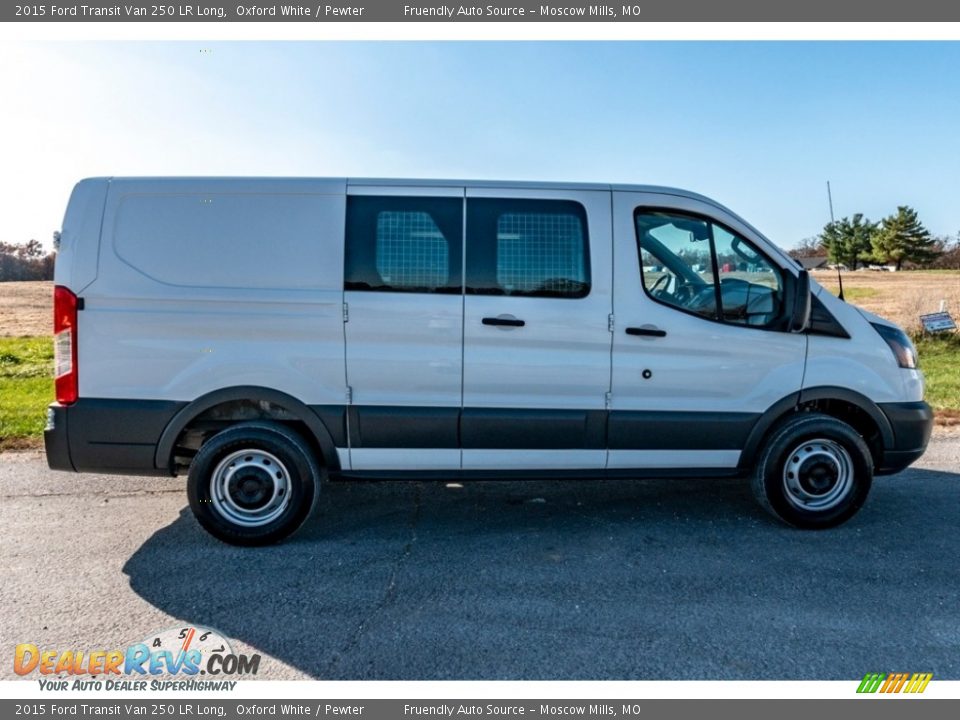
<svg viewBox="0 0 960 720">
<path fill-rule="evenodd" d="M 257 385 L 342 402 L 344 188 L 112 180 L 79 316 L 81 396 L 191 401 Z"/>
</svg>

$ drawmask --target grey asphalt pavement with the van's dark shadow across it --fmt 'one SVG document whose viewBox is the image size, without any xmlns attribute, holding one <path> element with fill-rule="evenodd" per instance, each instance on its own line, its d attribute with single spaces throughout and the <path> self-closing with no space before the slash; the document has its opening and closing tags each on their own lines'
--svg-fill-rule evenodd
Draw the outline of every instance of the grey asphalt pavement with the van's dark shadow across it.
<svg viewBox="0 0 960 720">
<path fill-rule="evenodd" d="M 184 479 L 0 455 L 0 677 L 17 643 L 191 624 L 267 679 L 960 679 L 960 437 L 828 531 L 733 480 L 351 483 L 282 545 L 221 544 Z"/>
</svg>

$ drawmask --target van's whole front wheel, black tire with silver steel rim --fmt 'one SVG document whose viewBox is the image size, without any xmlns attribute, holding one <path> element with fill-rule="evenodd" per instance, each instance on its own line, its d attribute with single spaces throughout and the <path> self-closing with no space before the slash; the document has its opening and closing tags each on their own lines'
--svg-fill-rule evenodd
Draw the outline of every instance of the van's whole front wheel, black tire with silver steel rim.
<svg viewBox="0 0 960 720">
<path fill-rule="evenodd" d="M 751 477 L 768 512 L 798 528 L 840 525 L 861 508 L 873 483 L 873 456 L 841 420 L 798 413 L 767 438 Z"/>
</svg>

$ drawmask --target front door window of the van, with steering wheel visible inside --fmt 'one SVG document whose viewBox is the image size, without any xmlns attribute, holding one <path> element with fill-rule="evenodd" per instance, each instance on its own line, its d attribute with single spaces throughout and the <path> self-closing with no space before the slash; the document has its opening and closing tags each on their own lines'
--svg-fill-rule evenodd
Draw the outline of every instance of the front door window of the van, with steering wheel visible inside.
<svg viewBox="0 0 960 720">
<path fill-rule="evenodd" d="M 779 269 L 727 228 L 694 215 L 639 209 L 640 277 L 654 300 L 737 325 L 780 317 Z"/>
</svg>

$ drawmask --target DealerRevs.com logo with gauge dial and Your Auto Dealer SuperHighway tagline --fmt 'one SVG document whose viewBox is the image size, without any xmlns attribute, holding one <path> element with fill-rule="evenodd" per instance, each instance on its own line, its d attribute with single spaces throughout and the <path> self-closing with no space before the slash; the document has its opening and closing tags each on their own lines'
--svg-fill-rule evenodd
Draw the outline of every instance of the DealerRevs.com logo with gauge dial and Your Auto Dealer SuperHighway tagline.
<svg viewBox="0 0 960 720">
<path fill-rule="evenodd" d="M 260 669 L 260 655 L 236 653 L 221 633 L 179 627 L 153 633 L 125 650 L 58 650 L 17 645 L 13 671 L 41 690 L 233 690 Z"/>
</svg>

